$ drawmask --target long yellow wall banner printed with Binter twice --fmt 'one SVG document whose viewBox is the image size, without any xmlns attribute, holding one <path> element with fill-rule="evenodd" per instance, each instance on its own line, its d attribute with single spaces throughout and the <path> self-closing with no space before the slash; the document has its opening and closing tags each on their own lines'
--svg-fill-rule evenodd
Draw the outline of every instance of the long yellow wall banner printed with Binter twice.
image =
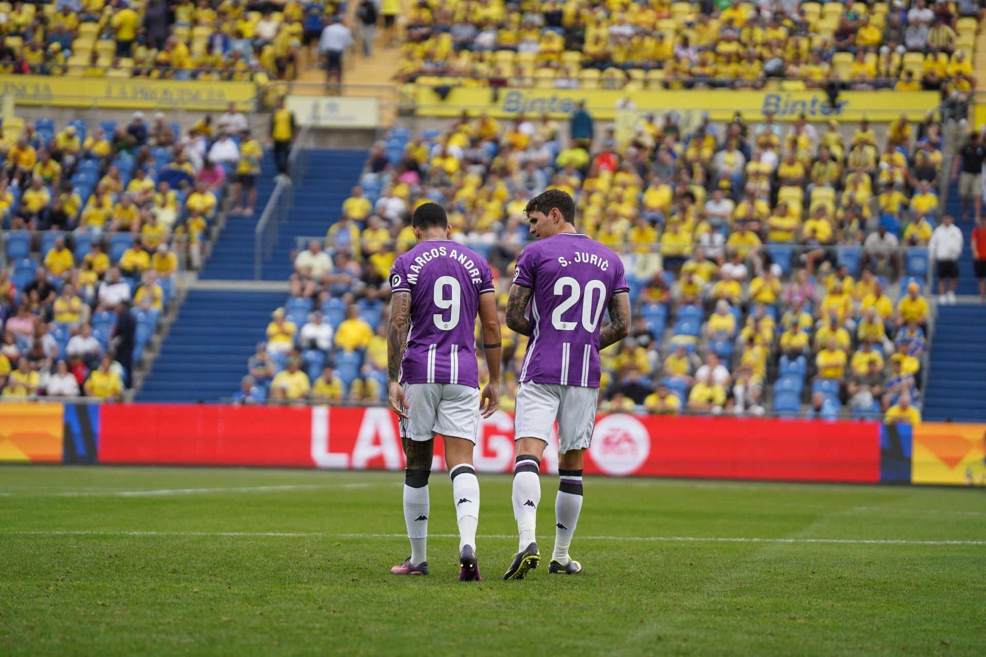
<svg viewBox="0 0 986 657">
<path fill-rule="evenodd" d="M 833 107 L 820 90 L 787 92 L 778 90 L 585 90 L 511 89 L 453 87 L 439 94 L 434 88 L 417 85 L 414 89 L 418 116 L 456 117 L 462 109 L 486 111 L 496 118 L 512 118 L 520 112 L 528 116 L 547 113 L 553 118 L 568 117 L 584 100 L 593 116 L 611 120 L 617 107 L 636 107 L 642 112 L 664 113 L 674 110 L 687 117 L 709 112 L 714 121 L 731 120 L 740 112 L 747 120 L 760 120 L 773 111 L 779 120 L 797 120 L 804 112 L 810 121 L 891 121 L 901 113 L 919 121 L 939 105 L 935 92 L 842 92 Z"/>
</svg>

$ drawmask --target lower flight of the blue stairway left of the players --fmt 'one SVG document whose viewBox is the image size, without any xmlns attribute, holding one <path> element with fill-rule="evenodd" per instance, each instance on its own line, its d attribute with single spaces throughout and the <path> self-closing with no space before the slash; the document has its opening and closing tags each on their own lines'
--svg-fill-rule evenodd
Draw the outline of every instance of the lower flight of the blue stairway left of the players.
<svg viewBox="0 0 986 657">
<path fill-rule="evenodd" d="M 216 402 L 240 388 L 285 293 L 192 290 L 178 311 L 138 402 Z"/>
</svg>

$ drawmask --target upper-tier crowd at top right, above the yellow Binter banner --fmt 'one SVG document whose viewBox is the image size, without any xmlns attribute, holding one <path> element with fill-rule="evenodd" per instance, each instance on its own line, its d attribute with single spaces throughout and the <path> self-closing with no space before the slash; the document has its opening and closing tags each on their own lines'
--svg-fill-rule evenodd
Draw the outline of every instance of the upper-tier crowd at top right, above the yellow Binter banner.
<svg viewBox="0 0 986 657">
<path fill-rule="evenodd" d="M 976 0 L 421 3 L 397 77 L 561 89 L 972 89 Z M 796 87 L 789 87 L 795 89 Z"/>
</svg>

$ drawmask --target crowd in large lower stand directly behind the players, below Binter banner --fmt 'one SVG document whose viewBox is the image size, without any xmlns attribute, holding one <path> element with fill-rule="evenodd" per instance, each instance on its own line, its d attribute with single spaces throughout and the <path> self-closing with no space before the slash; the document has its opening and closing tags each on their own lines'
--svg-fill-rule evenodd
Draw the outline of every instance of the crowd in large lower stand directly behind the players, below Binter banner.
<svg viewBox="0 0 986 657">
<path fill-rule="evenodd" d="M 951 225 L 939 219 L 933 115 L 877 126 L 882 139 L 866 120 L 771 114 L 688 131 L 673 113 L 648 117 L 622 143 L 611 130 L 594 137 L 582 107 L 566 127 L 575 139 L 548 116 L 479 114 L 393 131 L 324 243 L 295 255 L 243 394 L 379 398 L 387 274 L 414 243 L 414 208 L 448 209 L 454 238 L 489 258 L 504 307 L 528 241 L 524 208 L 554 187 L 576 199 L 580 230 L 621 253 L 635 300 L 630 336 L 602 355 L 601 408 L 918 417 L 927 247 Z M 340 343 L 343 325 L 365 342 Z M 316 327 L 320 345 L 304 339 Z M 510 410 L 527 338 L 504 331 Z"/>
</svg>

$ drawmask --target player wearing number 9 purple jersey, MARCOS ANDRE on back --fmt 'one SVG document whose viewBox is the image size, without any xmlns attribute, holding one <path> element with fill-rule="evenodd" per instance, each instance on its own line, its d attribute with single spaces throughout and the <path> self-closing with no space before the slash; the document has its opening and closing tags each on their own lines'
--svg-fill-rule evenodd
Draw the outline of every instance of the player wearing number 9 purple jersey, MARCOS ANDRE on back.
<svg viewBox="0 0 986 657">
<path fill-rule="evenodd" d="M 387 389 L 407 457 L 404 523 L 411 556 L 390 571 L 428 574 L 428 477 L 435 436 L 441 435 L 458 520 L 458 578 L 479 580 L 479 482 L 472 450 L 479 415 L 489 418 L 500 405 L 500 321 L 493 274 L 483 258 L 449 239 L 452 231 L 442 206 L 419 207 L 411 228 L 418 243 L 390 270 L 387 327 Z M 482 394 L 474 337 L 477 312 L 490 377 Z"/>
</svg>

